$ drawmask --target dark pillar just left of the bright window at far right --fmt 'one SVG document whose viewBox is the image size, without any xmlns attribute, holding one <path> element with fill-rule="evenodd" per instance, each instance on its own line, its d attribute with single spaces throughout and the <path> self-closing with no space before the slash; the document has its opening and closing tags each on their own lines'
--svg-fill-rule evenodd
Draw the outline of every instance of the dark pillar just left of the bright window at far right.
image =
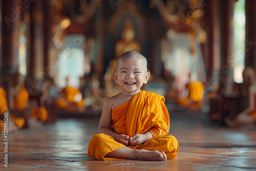
<svg viewBox="0 0 256 171">
<path fill-rule="evenodd" d="M 230 95 L 233 92 L 233 70 L 234 70 L 234 0 L 220 1 L 220 87 L 219 92 L 222 95 Z"/>
</svg>

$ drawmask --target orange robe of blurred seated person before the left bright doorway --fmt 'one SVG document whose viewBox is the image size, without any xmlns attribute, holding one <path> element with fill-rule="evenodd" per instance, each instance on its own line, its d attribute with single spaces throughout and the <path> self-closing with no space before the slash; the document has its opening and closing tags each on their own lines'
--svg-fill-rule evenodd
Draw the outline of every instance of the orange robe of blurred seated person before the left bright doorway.
<svg viewBox="0 0 256 171">
<path fill-rule="evenodd" d="M 74 111 L 77 108 L 84 107 L 83 98 L 78 102 L 76 102 L 74 100 L 75 96 L 78 95 L 79 93 L 81 93 L 78 89 L 75 89 L 73 87 L 66 87 L 62 90 L 62 93 L 65 94 L 66 98 L 65 99 L 57 99 L 56 105 L 58 108 L 67 110 L 67 111 Z M 68 103 L 74 102 L 74 103 L 67 104 L 66 102 L 68 102 Z"/>
</svg>

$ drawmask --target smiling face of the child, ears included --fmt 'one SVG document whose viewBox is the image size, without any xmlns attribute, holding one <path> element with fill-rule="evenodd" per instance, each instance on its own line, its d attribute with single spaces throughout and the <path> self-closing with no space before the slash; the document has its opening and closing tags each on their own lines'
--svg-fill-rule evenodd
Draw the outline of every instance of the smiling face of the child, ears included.
<svg viewBox="0 0 256 171">
<path fill-rule="evenodd" d="M 145 58 L 135 54 L 120 57 L 113 76 L 123 94 L 135 95 L 139 93 L 143 83 L 147 83 L 150 73 L 146 72 Z"/>
</svg>

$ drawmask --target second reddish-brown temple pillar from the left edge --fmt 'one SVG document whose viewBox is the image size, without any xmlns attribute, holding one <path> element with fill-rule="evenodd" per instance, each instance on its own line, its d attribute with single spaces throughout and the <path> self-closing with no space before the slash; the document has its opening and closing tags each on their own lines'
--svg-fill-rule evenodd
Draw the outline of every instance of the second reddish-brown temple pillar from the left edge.
<svg viewBox="0 0 256 171">
<path fill-rule="evenodd" d="M 30 52 L 28 62 L 29 77 L 43 77 L 44 67 L 44 1 L 31 3 L 30 8 Z"/>
</svg>

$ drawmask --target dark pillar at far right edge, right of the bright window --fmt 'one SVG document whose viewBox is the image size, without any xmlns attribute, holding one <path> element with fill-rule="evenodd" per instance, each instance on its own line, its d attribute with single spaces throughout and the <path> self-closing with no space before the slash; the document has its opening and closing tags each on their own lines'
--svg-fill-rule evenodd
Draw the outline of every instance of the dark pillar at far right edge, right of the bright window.
<svg viewBox="0 0 256 171">
<path fill-rule="evenodd" d="M 245 67 L 256 68 L 256 1 L 245 0 Z"/>
</svg>

